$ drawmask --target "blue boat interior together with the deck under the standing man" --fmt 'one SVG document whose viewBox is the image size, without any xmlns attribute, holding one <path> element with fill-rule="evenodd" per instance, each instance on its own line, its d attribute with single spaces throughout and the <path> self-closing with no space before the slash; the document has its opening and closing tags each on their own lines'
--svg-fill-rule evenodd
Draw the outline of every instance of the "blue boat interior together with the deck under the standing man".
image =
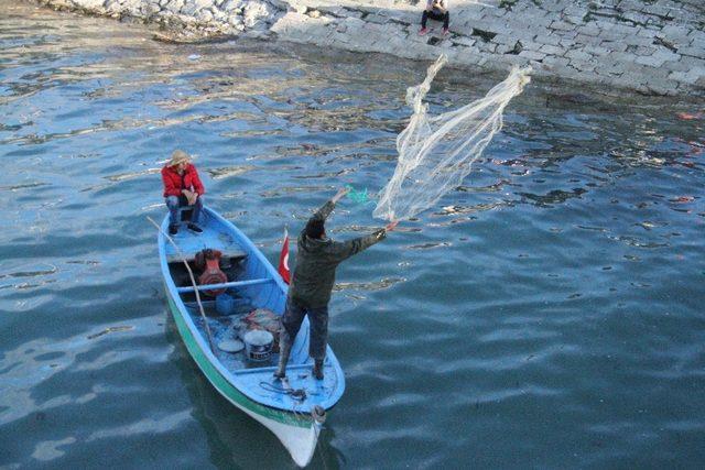
<svg viewBox="0 0 705 470">
<path fill-rule="evenodd" d="M 264 255 L 230 222 L 208 208 L 204 208 L 200 219 L 203 233 L 194 233 L 182 223 L 178 233 L 172 237 L 178 250 L 162 237 L 163 261 L 175 286 L 175 292 L 170 292 L 172 296 L 178 295 L 183 303 L 183 307 L 176 303 L 178 311 L 188 314 L 191 321 L 186 327 L 200 336 L 205 348 L 209 348 L 218 363 L 229 372 L 228 381 L 251 400 L 295 412 L 311 412 L 316 406 L 327 409 L 335 405 L 345 389 L 343 370 L 328 348 L 324 380 L 315 380 L 308 357 L 307 318 L 304 318 L 292 346 L 286 380 L 273 376 L 279 361 L 278 338 L 274 338 L 271 351 L 264 354 L 256 351 L 250 334 L 253 329 L 272 334 L 279 331 L 286 303 L 286 286 Z M 167 222 L 164 219 L 163 230 L 167 229 Z M 204 258 L 208 256 L 202 254 L 199 259 L 199 253 L 205 249 L 217 250 L 219 260 L 214 262 L 210 256 L 210 264 L 206 261 L 207 269 L 204 270 Z M 184 260 L 194 273 L 196 286 Z M 203 281 L 200 276 L 214 267 L 213 263 L 221 273 L 216 276 L 217 281 L 199 282 Z M 219 291 L 218 295 L 214 295 L 214 291 Z M 227 299 L 227 308 L 224 307 L 224 298 Z M 257 331 L 257 335 L 261 336 L 262 331 Z"/>
</svg>

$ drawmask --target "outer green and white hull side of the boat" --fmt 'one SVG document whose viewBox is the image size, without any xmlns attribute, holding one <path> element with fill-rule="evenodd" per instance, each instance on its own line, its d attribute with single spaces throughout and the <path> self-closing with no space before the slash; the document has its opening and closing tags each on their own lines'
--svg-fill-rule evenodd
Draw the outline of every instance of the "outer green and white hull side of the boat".
<svg viewBox="0 0 705 470">
<path fill-rule="evenodd" d="M 227 401 L 271 430 L 286 450 L 289 450 L 297 466 L 305 467 L 308 464 L 316 449 L 321 424 L 308 413 L 291 413 L 263 406 L 250 400 L 235 387 L 209 361 L 198 341 L 194 338 L 193 332 L 186 326 L 183 314 L 174 302 L 170 289 L 165 288 L 165 291 L 169 298 L 169 307 L 178 334 L 188 353 L 206 379 L 208 379 L 218 393 Z"/>
</svg>

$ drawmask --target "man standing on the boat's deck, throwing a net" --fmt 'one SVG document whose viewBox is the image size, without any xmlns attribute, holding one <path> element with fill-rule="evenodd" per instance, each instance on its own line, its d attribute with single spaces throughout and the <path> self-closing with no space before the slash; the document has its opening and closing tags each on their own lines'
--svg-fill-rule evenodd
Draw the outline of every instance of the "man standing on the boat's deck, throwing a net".
<svg viewBox="0 0 705 470">
<path fill-rule="evenodd" d="M 311 323 L 308 354 L 314 360 L 314 376 L 323 380 L 323 360 L 328 338 L 328 302 L 335 283 L 335 270 L 341 261 L 383 240 L 387 232 L 397 227 L 398 221 L 393 221 L 371 234 L 346 242 L 327 238 L 325 220 L 333 211 L 335 204 L 347 193 L 348 189 L 340 189 L 308 219 L 306 227 L 299 236 L 296 267 L 289 286 L 286 309 L 282 316 L 279 368 L 274 372 L 274 376 L 279 379 L 286 376 L 291 346 L 304 316 L 308 315 Z"/>
</svg>

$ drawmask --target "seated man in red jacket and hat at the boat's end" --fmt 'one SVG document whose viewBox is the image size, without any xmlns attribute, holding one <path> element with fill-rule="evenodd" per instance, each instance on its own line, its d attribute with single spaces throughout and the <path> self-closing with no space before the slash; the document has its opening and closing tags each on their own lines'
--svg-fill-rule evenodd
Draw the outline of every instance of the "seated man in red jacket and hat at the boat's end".
<svg viewBox="0 0 705 470">
<path fill-rule="evenodd" d="M 203 195 L 206 192 L 198 177 L 198 172 L 191 156 L 184 151 L 175 150 L 172 159 L 162 168 L 162 181 L 164 182 L 164 197 L 170 211 L 169 233 L 178 232 L 181 216 L 180 207 L 193 206 L 188 230 L 200 233 L 198 218 L 203 209 Z"/>
</svg>

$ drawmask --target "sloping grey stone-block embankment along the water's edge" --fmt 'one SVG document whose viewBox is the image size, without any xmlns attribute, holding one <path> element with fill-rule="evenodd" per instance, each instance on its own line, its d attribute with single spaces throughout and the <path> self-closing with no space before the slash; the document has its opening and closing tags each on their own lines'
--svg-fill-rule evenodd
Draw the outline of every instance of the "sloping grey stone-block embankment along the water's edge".
<svg viewBox="0 0 705 470">
<path fill-rule="evenodd" d="M 245 34 L 322 47 L 568 78 L 654 95 L 705 95 L 705 0 L 449 0 L 451 34 L 420 36 L 423 3 L 394 0 L 41 0 L 181 34 Z M 423 1 L 423 0 L 422 0 Z"/>
</svg>

